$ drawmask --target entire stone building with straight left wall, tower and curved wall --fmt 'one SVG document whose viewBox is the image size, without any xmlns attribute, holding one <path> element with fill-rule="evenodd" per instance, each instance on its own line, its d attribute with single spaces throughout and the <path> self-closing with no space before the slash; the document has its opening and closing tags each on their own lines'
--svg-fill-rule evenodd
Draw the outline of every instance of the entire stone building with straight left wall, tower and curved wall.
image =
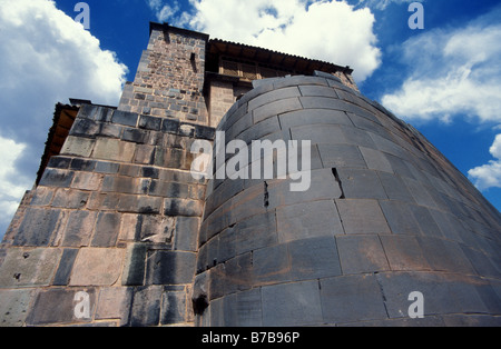
<svg viewBox="0 0 501 349">
<path fill-rule="evenodd" d="M 118 108 L 57 106 L 0 326 L 499 326 L 500 213 L 351 73 L 151 23 Z M 272 177 L 191 176 L 232 140 L 308 141 L 311 186 L 279 147 L 239 164 Z"/>
</svg>

